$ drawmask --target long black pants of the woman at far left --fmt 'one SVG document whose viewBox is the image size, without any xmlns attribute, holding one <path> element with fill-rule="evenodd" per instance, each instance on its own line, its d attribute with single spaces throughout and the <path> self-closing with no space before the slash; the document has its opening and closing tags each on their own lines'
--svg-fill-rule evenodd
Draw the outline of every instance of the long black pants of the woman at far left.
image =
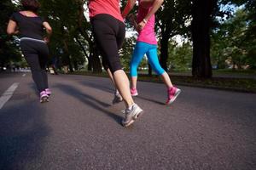
<svg viewBox="0 0 256 170">
<path fill-rule="evenodd" d="M 20 48 L 31 68 L 32 78 L 38 91 L 44 91 L 45 88 L 48 88 L 48 77 L 45 71 L 49 56 L 47 44 L 43 41 L 23 40 L 20 42 Z"/>
</svg>

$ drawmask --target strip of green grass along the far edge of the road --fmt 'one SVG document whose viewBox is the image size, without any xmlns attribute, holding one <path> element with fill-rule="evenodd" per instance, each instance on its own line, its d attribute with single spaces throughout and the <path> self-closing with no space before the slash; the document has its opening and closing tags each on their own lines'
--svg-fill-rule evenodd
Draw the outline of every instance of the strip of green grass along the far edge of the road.
<svg viewBox="0 0 256 170">
<path fill-rule="evenodd" d="M 71 73 L 73 75 L 84 75 L 93 77 L 108 77 L 107 72 L 102 73 L 92 73 L 90 71 L 75 71 Z M 139 81 L 143 82 L 159 82 L 162 83 L 160 77 L 153 76 L 148 77 L 148 75 L 139 75 Z M 217 88 L 223 90 L 240 91 L 256 93 L 256 79 L 249 78 L 211 78 L 202 79 L 187 76 L 172 76 L 172 83 L 176 85 L 184 85 L 190 87 L 200 87 L 200 88 Z"/>
</svg>

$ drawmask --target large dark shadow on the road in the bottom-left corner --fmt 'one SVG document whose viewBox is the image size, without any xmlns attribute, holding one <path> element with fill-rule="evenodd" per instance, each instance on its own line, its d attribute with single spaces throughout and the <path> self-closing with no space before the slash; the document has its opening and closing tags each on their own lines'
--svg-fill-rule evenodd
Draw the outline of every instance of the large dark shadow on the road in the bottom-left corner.
<svg viewBox="0 0 256 170">
<path fill-rule="evenodd" d="M 29 162 L 42 156 L 49 128 L 44 108 L 38 105 L 23 102 L 0 111 L 0 169 L 26 169 Z"/>
</svg>

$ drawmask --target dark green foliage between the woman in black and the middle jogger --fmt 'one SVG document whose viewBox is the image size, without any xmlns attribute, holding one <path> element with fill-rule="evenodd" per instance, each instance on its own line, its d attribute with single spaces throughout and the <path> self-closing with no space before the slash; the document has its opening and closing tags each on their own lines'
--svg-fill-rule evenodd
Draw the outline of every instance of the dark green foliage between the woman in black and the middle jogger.
<svg viewBox="0 0 256 170">
<path fill-rule="evenodd" d="M 49 43 L 50 54 L 61 58 L 62 64 L 71 65 L 70 62 L 73 62 L 75 69 L 77 65 L 84 65 L 83 50 L 75 40 L 83 39 L 79 32 L 79 14 L 84 1 L 40 0 L 40 3 L 40 14 L 48 18 L 53 28 L 53 36 Z M 84 23 L 86 24 L 86 20 L 83 20 L 82 26 Z M 63 51 L 63 54 L 60 51 Z"/>
</svg>

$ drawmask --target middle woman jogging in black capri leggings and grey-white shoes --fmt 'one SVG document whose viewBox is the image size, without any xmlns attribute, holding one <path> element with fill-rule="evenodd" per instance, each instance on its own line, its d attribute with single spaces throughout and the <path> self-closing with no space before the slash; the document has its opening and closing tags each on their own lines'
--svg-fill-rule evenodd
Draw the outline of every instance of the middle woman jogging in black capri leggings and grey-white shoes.
<svg viewBox="0 0 256 170">
<path fill-rule="evenodd" d="M 129 79 L 122 69 L 119 48 L 125 38 L 125 24 L 119 9 L 119 0 L 90 0 L 90 22 L 102 58 L 113 74 L 113 81 L 125 101 L 123 126 L 130 126 L 143 110 L 131 98 Z"/>
</svg>

